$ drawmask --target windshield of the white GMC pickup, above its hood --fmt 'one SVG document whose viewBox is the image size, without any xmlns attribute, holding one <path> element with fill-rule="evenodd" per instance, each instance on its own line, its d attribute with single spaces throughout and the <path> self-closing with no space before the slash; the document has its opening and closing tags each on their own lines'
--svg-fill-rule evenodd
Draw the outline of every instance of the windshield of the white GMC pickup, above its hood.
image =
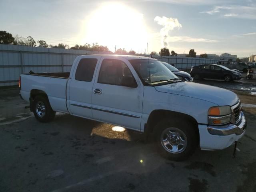
<svg viewBox="0 0 256 192">
<path fill-rule="evenodd" d="M 158 60 L 136 59 L 129 60 L 138 76 L 147 84 L 163 82 L 180 82 L 178 78 Z M 174 81 L 175 80 L 175 81 Z"/>
</svg>

